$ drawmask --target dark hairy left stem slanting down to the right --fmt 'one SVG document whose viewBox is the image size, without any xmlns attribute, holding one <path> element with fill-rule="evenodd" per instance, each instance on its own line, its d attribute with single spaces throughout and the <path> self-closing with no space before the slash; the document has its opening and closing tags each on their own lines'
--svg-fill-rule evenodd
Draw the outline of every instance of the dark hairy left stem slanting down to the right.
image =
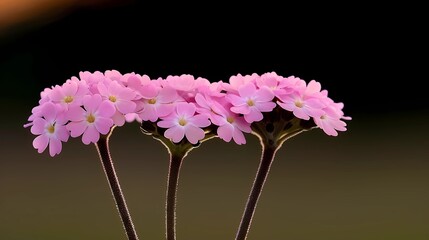
<svg viewBox="0 0 429 240">
<path fill-rule="evenodd" d="M 100 136 L 100 140 L 95 144 L 97 147 L 98 154 L 100 156 L 101 163 L 103 165 L 104 173 L 106 174 L 107 180 L 110 185 L 113 197 L 116 202 L 119 215 L 122 220 L 125 232 L 128 236 L 128 240 L 138 240 L 134 224 L 131 219 L 131 215 L 128 211 L 127 203 L 125 202 L 124 194 L 122 193 L 121 186 L 119 185 L 119 179 L 113 166 L 113 161 L 109 151 L 109 137 L 108 135 Z"/>
</svg>

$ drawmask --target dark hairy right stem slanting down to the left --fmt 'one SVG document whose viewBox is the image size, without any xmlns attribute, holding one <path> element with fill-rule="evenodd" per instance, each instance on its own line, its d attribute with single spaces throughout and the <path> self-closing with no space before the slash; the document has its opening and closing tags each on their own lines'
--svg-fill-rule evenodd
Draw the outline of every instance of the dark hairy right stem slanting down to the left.
<svg viewBox="0 0 429 240">
<path fill-rule="evenodd" d="M 256 205 L 261 196 L 264 183 L 267 180 L 268 173 L 273 163 L 274 156 L 278 150 L 277 146 L 264 144 L 262 141 L 262 156 L 259 163 L 258 172 L 253 182 L 252 190 L 247 200 L 246 208 L 241 218 L 240 226 L 235 237 L 236 240 L 245 240 L 249 232 L 253 215 L 255 214 Z"/>
</svg>

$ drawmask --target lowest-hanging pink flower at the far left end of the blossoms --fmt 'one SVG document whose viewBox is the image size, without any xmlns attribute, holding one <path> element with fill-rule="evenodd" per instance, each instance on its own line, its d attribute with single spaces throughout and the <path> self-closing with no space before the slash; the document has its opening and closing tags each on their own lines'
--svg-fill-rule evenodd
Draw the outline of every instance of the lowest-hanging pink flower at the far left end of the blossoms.
<svg viewBox="0 0 429 240">
<path fill-rule="evenodd" d="M 34 119 L 31 127 L 31 133 L 39 135 L 33 141 L 34 148 L 42 153 L 49 145 L 51 157 L 59 154 L 62 149 L 61 142 L 67 142 L 69 138 L 65 123 L 64 115 L 55 104 L 47 102 L 41 106 L 39 115 Z"/>
</svg>

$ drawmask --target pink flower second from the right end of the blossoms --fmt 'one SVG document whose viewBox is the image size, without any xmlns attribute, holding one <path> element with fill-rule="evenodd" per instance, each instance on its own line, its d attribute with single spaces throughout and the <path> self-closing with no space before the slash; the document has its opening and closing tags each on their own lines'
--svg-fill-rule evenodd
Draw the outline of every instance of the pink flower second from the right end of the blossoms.
<svg viewBox="0 0 429 240">
<path fill-rule="evenodd" d="M 318 118 L 324 114 L 325 106 L 320 93 L 320 83 L 311 81 L 306 87 L 297 87 L 291 94 L 279 96 L 277 104 L 300 119 L 309 120 L 310 117 Z"/>
</svg>

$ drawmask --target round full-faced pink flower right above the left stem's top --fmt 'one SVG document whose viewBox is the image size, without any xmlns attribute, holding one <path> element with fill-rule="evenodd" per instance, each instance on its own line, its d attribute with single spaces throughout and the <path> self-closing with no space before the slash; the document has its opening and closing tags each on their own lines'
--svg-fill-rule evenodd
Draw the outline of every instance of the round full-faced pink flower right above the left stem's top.
<svg viewBox="0 0 429 240">
<path fill-rule="evenodd" d="M 113 126 L 111 117 L 115 114 L 115 107 L 110 101 L 102 100 L 99 94 L 85 96 L 82 107 L 72 107 L 67 112 L 71 121 L 67 129 L 72 137 L 83 134 L 82 142 L 86 145 L 96 143 L 101 134 L 107 134 Z"/>
</svg>

